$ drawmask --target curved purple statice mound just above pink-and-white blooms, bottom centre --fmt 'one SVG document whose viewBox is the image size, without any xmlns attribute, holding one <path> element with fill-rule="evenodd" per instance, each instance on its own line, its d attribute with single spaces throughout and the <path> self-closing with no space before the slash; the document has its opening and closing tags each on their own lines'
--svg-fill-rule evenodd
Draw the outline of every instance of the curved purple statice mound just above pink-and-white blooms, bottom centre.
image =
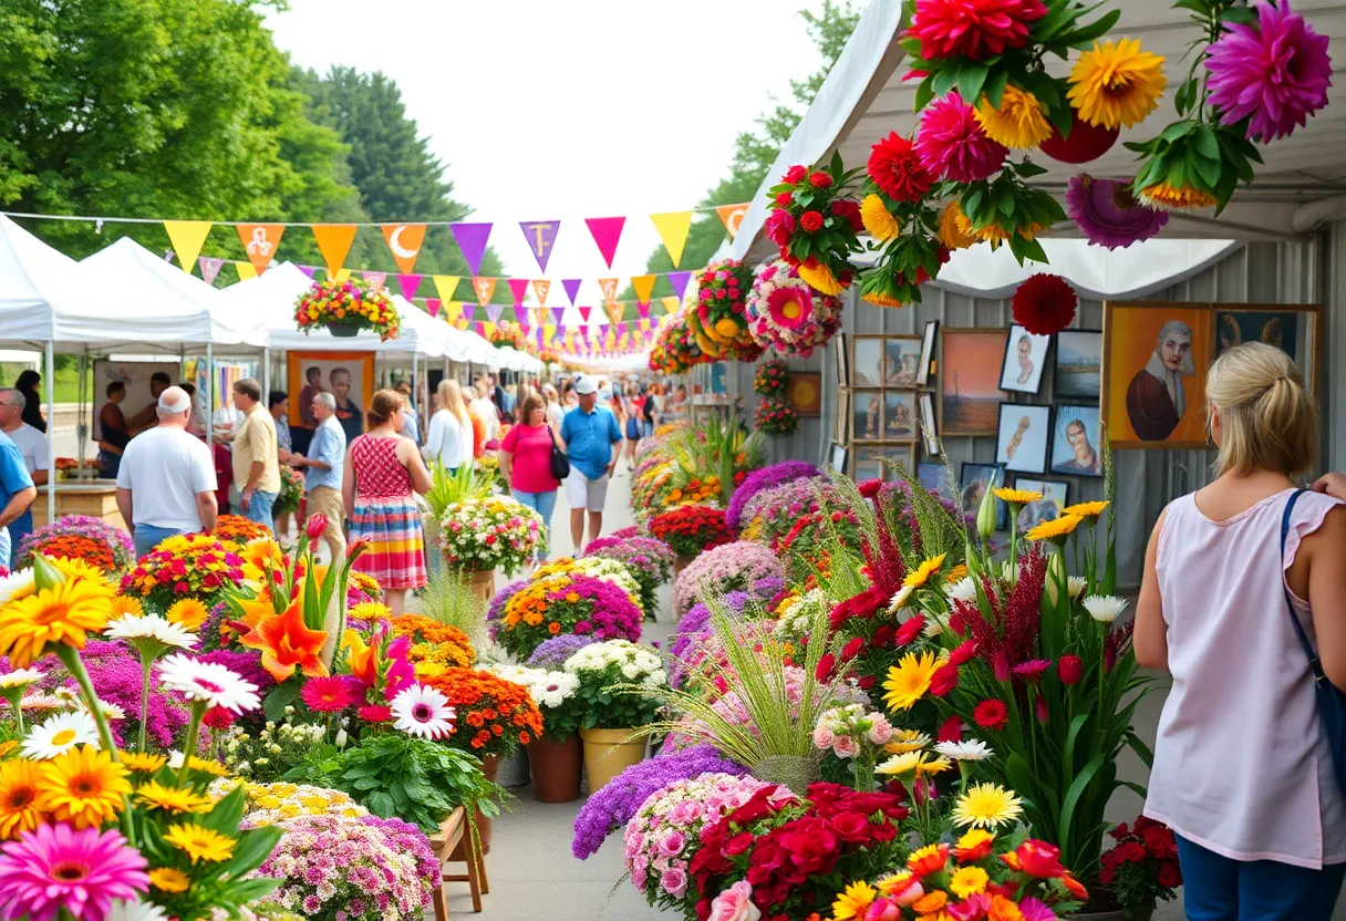
<svg viewBox="0 0 1346 921">
<path fill-rule="evenodd" d="M 680 780 L 690 780 L 705 773 L 723 773 L 742 777 L 747 769 L 732 761 L 725 761 L 708 745 L 684 749 L 677 754 L 660 755 L 627 768 L 614 777 L 607 786 L 598 790 L 584 803 L 575 816 L 575 840 L 571 854 L 584 860 L 603 847 L 603 840 L 626 827 L 656 790 Z"/>
</svg>

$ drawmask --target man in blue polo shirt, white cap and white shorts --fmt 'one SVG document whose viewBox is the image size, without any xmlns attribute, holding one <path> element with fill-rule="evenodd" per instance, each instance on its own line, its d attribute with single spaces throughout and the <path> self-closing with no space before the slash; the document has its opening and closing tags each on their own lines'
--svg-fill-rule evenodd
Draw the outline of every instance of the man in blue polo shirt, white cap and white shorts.
<svg viewBox="0 0 1346 921">
<path fill-rule="evenodd" d="M 580 405 L 561 420 L 561 442 L 571 456 L 571 475 L 565 478 L 565 498 L 571 504 L 571 540 L 575 552 L 584 548 L 584 510 L 588 509 L 590 540 L 603 531 L 603 502 L 607 482 L 616 466 L 622 430 L 607 407 L 598 405 L 598 381 L 586 374 L 575 382 Z"/>
</svg>

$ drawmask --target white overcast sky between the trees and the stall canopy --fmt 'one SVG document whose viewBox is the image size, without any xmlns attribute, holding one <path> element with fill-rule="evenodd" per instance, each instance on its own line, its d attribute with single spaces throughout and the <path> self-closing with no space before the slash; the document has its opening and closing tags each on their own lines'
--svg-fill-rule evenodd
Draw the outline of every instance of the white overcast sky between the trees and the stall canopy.
<svg viewBox="0 0 1346 921">
<path fill-rule="evenodd" d="M 520 221 L 560 219 L 546 276 L 586 279 L 592 302 L 594 279 L 643 272 L 649 214 L 695 206 L 770 94 L 818 66 L 793 15 L 809 3 L 291 0 L 268 26 L 300 66 L 396 79 L 506 269 L 538 275 Z M 610 273 L 584 218 L 619 214 Z"/>
</svg>

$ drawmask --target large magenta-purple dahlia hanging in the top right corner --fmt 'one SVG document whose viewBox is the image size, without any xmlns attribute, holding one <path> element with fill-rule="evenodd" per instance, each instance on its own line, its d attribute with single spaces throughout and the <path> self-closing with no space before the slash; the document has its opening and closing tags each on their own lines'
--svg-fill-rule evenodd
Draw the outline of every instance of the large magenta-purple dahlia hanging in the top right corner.
<svg viewBox="0 0 1346 921">
<path fill-rule="evenodd" d="M 1210 102 L 1219 121 L 1248 116 L 1248 139 L 1269 141 L 1303 128 L 1327 105 L 1333 59 L 1327 36 L 1291 12 L 1288 0 L 1257 4 L 1257 26 L 1225 23 L 1225 34 L 1206 57 Z"/>
</svg>

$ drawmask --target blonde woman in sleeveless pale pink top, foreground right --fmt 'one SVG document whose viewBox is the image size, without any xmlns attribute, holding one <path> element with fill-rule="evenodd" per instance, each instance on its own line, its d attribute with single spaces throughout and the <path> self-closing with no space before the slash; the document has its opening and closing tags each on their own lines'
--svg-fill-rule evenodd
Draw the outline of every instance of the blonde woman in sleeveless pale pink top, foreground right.
<svg viewBox="0 0 1346 921">
<path fill-rule="evenodd" d="M 1285 353 L 1230 349 L 1206 400 L 1218 477 L 1159 517 L 1136 607 L 1137 661 L 1172 675 L 1145 815 L 1178 835 L 1187 918 L 1327 921 L 1346 793 L 1289 618 L 1346 688 L 1346 509 L 1291 479 L 1314 462 L 1318 408 Z"/>
</svg>

